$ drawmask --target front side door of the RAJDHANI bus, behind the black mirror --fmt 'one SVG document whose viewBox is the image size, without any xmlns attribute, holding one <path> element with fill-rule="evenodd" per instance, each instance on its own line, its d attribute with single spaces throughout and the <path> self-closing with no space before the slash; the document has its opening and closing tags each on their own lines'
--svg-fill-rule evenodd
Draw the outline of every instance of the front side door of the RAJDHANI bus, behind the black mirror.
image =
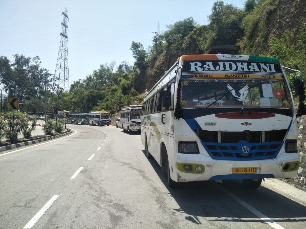
<svg viewBox="0 0 306 229">
<path fill-rule="evenodd" d="M 168 90 L 163 91 L 162 106 L 165 112 L 162 114 L 162 123 L 165 125 L 165 133 L 174 134 L 174 83 L 170 82 Z M 164 96 L 165 95 L 165 96 Z"/>
</svg>

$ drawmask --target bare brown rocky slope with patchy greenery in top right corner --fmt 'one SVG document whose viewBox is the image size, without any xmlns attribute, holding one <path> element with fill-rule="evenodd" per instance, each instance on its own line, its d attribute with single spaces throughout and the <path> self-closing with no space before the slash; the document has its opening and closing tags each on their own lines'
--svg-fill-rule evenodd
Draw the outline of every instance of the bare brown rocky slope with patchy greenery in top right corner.
<svg viewBox="0 0 306 229">
<path fill-rule="evenodd" d="M 297 38 L 301 28 L 300 20 L 306 18 L 306 1 L 270 0 L 255 11 L 256 16 L 250 16 L 249 19 L 251 29 L 237 45 L 241 46 L 241 51 L 259 55 L 269 53 L 271 39 L 281 38 L 286 30 Z M 298 42 L 295 45 L 299 46 Z"/>
</svg>

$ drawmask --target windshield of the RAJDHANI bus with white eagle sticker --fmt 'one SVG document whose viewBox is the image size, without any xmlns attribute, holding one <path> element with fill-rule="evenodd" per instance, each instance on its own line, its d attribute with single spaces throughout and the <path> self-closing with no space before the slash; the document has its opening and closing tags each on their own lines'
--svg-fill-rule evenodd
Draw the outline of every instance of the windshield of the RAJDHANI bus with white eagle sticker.
<svg viewBox="0 0 306 229">
<path fill-rule="evenodd" d="M 289 92 L 283 79 L 191 79 L 181 83 L 181 108 L 275 107 L 291 108 Z"/>
</svg>

